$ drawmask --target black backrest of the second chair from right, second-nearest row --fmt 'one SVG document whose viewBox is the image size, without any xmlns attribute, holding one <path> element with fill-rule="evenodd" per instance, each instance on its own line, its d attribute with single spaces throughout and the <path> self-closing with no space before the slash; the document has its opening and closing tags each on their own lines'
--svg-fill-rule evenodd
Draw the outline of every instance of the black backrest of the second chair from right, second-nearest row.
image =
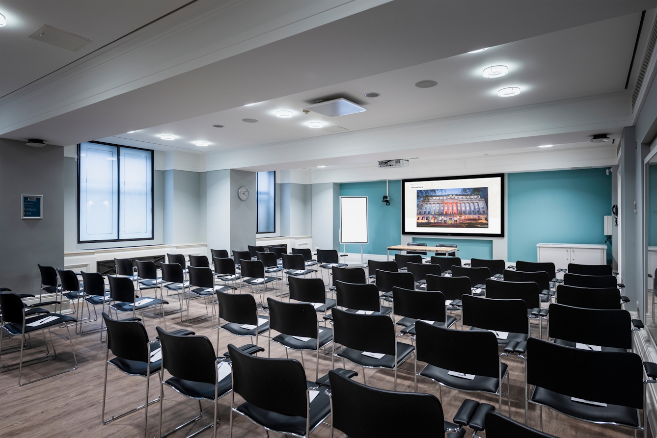
<svg viewBox="0 0 657 438">
<path fill-rule="evenodd" d="M 499 378 L 497 338 L 491 332 L 451 330 L 418 321 L 415 345 L 418 361 L 464 374 Z M 477 360 L 455 351 L 476 351 Z"/>
</svg>

